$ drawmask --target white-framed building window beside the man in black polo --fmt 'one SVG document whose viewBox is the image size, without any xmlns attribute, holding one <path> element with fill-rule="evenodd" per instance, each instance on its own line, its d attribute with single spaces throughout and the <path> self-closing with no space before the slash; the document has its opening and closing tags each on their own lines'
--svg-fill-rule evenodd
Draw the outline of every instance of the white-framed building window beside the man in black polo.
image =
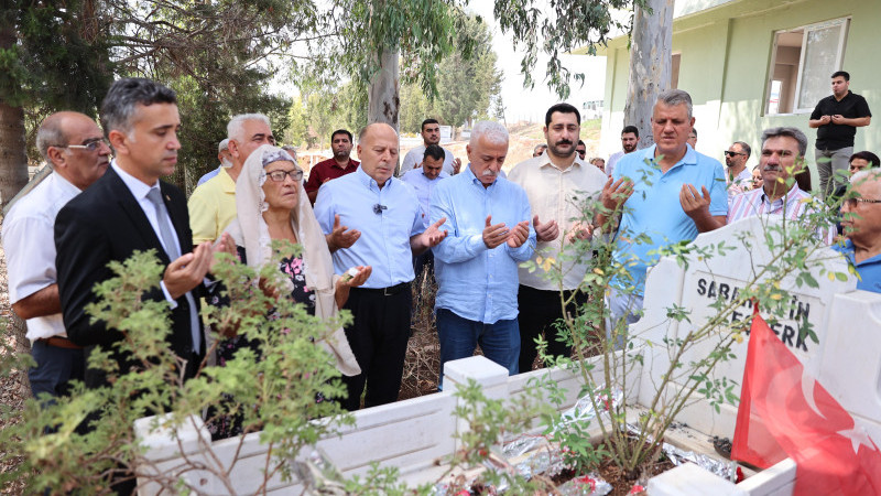
<svg viewBox="0 0 881 496">
<path fill-rule="evenodd" d="M 829 77 L 841 69 L 850 19 L 774 33 L 765 114 L 809 112 L 830 95 Z"/>
</svg>

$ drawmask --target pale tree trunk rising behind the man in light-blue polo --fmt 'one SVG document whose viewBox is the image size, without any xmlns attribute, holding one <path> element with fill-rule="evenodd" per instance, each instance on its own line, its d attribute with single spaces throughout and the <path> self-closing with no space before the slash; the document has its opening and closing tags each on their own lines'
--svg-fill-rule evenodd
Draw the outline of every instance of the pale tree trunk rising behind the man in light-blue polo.
<svg viewBox="0 0 881 496">
<path fill-rule="evenodd" d="M 624 126 L 640 130 L 639 148 L 651 145 L 652 108 L 657 95 L 670 89 L 673 58 L 673 1 L 649 0 L 652 14 L 637 6 L 633 12 L 630 80 Z"/>
</svg>

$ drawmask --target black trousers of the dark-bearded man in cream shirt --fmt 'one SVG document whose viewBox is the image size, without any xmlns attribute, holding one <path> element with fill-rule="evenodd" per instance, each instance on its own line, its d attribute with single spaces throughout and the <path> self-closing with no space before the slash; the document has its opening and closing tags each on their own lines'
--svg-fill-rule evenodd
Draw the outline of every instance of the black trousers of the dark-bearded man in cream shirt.
<svg viewBox="0 0 881 496">
<path fill-rule="evenodd" d="M 565 298 L 572 291 L 564 291 Z M 532 364 L 539 355 L 535 338 L 544 335 L 547 342 L 547 354 L 553 356 L 570 356 L 572 347 L 557 341 L 557 330 L 554 323 L 563 319 L 563 309 L 559 304 L 559 291 L 545 291 L 520 285 L 516 293 L 518 324 L 520 325 L 520 373 L 532 370 Z M 587 302 L 587 295 L 579 292 L 575 301 L 566 305 L 566 312 L 575 315 L 578 305 Z"/>
</svg>

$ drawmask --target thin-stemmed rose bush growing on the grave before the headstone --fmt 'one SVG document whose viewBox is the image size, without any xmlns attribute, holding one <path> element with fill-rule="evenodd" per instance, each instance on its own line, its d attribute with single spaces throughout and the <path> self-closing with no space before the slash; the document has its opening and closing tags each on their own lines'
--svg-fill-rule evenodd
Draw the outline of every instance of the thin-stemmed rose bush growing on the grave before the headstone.
<svg viewBox="0 0 881 496">
<path fill-rule="evenodd" d="M 653 163 L 650 165 L 657 168 Z M 633 180 L 645 182 L 650 177 Z M 785 186 L 788 191 L 794 182 L 790 177 L 781 187 Z M 679 330 L 687 328 L 687 332 L 679 332 L 676 336 L 662 333 L 665 337 L 660 342 L 631 334 L 623 320 L 612 322 L 609 319 L 606 300 L 609 288 L 614 284 L 623 294 L 635 294 L 637 291 L 627 263 L 612 256 L 614 245 L 610 237 L 595 235 L 592 240 L 564 241 L 564 250 L 557 260 L 525 262 L 523 267 L 545 271 L 547 278 L 561 284 L 561 289 L 566 267 L 563 261 L 587 266 L 578 289 L 588 295 L 588 301 L 580 305 L 577 313 L 565 312 L 575 299 L 574 293 L 567 299 L 561 291 L 564 319 L 557 323 L 557 338 L 573 346 L 572 360 L 551 359 L 541 354 L 548 365 L 563 365 L 577 370 L 583 385 L 579 396 L 589 398 L 596 412 L 605 412 L 605 419 L 594 422 L 594 428 L 601 431 L 607 452 L 600 453 L 586 446 L 587 431 L 584 425 L 574 423 L 553 433 L 553 439 L 561 443 L 569 463 L 579 467 L 596 467 L 600 459 L 608 457 L 635 479 L 642 475 L 642 467 L 660 455 L 665 432 L 684 408 L 698 398 L 706 399 L 717 412 L 724 403 L 736 405 L 737 384 L 726 377 L 717 377 L 714 370 L 719 364 L 735 358 L 732 347 L 748 334 L 755 304 L 769 315 L 772 325 L 777 320 L 796 315 L 801 324 L 798 339 L 816 342 L 815 330 L 807 321 L 807 315 L 800 313 L 798 302 L 790 291 L 801 287 L 817 288 L 818 281 L 813 276 L 816 273 L 830 280 L 847 279 L 846 273 L 827 270 L 826 262 L 833 257 L 819 252 L 825 247 L 819 234 L 834 225 L 837 206 L 823 205 L 814 200 L 805 205 L 807 212 L 798 222 L 786 219 L 784 211 L 782 222 L 763 219 L 764 233 L 758 239 L 742 234 L 737 239 L 709 246 L 677 242 L 652 251 L 650 255 L 657 258 L 672 257 L 684 268 L 710 272 L 709 260 L 736 249 L 746 250 L 752 260 L 751 270 L 744 273 L 747 282 L 736 294 L 714 296 L 709 305 L 713 310 L 709 319 L 695 320 L 695 309 L 682 305 L 673 304 L 665 309 L 666 321 L 657 325 L 666 328 L 682 323 Z M 572 220 L 590 223 L 601 213 L 607 219 L 601 226 L 605 233 L 614 231 L 617 219 L 622 214 L 622 208 L 611 212 L 596 198 L 581 198 L 579 207 L 580 218 Z M 644 235 L 624 235 L 630 236 L 633 244 L 649 241 Z M 567 239 L 565 233 L 562 237 Z M 760 249 L 765 261 L 757 263 L 754 260 L 760 258 Z M 753 254 L 757 256 L 753 257 Z M 784 280 L 794 281 L 794 287 L 784 287 Z M 665 356 L 668 365 L 652 370 L 651 400 L 643 406 L 629 403 L 628 398 L 632 397 L 630 392 L 639 387 L 632 384 L 634 371 L 646 374 L 646 358 L 659 354 Z M 618 391 L 623 392 L 624 400 L 617 403 L 603 400 Z"/>
</svg>

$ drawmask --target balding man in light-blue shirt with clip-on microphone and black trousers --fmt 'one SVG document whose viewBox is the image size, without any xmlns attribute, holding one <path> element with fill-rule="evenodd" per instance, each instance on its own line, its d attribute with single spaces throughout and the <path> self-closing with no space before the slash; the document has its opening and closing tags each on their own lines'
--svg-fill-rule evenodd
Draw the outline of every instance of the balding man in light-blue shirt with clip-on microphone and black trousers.
<svg viewBox="0 0 881 496">
<path fill-rule="evenodd" d="M 398 133 L 391 126 L 366 127 L 358 139 L 358 170 L 324 183 L 315 203 L 335 272 L 373 268 L 362 287 L 352 288 L 345 306 L 355 317 L 346 337 L 361 367 L 361 374 L 342 378 L 348 398 L 341 403 L 347 410 L 360 407 L 365 382 L 365 407 L 398 399 L 410 337 L 412 255 L 446 236 L 437 229 L 445 219 L 426 228 L 413 188 L 392 176 Z"/>
</svg>

